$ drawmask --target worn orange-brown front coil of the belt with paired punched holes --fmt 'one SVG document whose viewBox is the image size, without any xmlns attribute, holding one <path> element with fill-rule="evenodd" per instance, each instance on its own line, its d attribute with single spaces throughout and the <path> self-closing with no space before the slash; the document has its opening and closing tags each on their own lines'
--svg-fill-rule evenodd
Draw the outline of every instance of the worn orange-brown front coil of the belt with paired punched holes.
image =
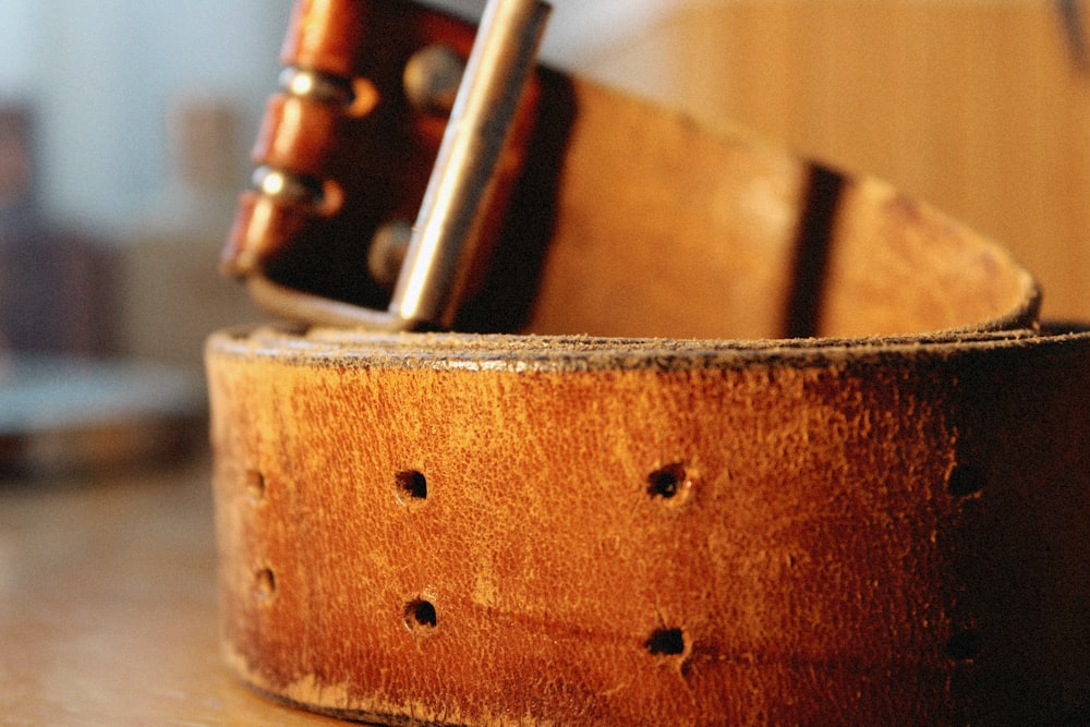
<svg viewBox="0 0 1090 727">
<path fill-rule="evenodd" d="M 1046 724 L 1088 347 L 221 336 L 228 657 L 393 724 Z"/>
</svg>

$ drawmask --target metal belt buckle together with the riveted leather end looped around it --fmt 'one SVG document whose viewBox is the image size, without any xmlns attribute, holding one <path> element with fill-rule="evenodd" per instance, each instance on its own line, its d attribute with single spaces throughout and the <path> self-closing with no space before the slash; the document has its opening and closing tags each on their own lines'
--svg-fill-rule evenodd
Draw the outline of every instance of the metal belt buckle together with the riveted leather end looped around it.
<svg viewBox="0 0 1090 727">
<path fill-rule="evenodd" d="M 289 65 L 281 74 L 281 93 L 270 99 L 266 119 L 272 122 L 270 126 L 266 122 L 253 155 L 261 166 L 253 189 L 243 194 L 225 250 L 223 270 L 244 279 L 251 296 L 266 312 L 303 324 L 378 331 L 450 328 L 471 268 L 493 243 L 488 238 L 495 235 L 495 221 L 506 205 L 502 187 L 517 177 L 524 157 L 524 134 L 516 132 L 532 123 L 534 95 L 526 92 L 549 8 L 540 0 L 488 0 L 450 101 L 443 96 L 444 89 L 456 85 L 449 78 L 459 71 L 457 50 L 441 43 L 419 49 L 413 45 L 429 36 L 457 36 L 456 21 L 437 21 L 434 11 L 405 13 L 400 5 L 390 10 L 391 3 L 376 0 L 341 3 L 334 12 L 323 3 L 317 9 L 312 4 L 299 3 L 289 31 L 289 39 L 302 40 L 286 45 L 283 59 Z M 307 24 L 315 29 L 303 31 Z M 380 35 L 390 24 L 405 26 L 404 35 L 370 39 L 368 33 Z M 310 45 L 308 33 L 313 36 Z M 340 40 L 339 46 L 330 36 Z M 339 52 L 323 54 L 319 47 Z M 391 48 L 401 50 L 401 56 Z M 390 56 L 401 58 L 409 51 L 403 73 L 384 68 Z M 379 72 L 375 78 L 364 78 L 359 75 L 361 68 Z M 441 112 L 448 104 L 444 124 Z M 338 136 L 344 134 L 346 125 L 358 121 L 356 133 L 382 137 L 391 133 L 399 118 L 404 121 L 410 108 L 423 119 L 412 124 L 408 141 L 399 136 L 389 143 L 391 147 L 410 145 L 407 162 L 420 157 L 412 150 L 414 145 L 426 147 L 429 136 L 441 137 L 415 222 L 411 227 L 397 221 L 372 225 L 403 207 L 404 201 L 398 194 L 376 194 L 379 198 L 373 203 L 361 198 L 367 196 L 361 190 L 376 189 L 382 184 L 376 180 L 389 178 L 387 183 L 405 187 L 403 192 L 411 197 L 412 171 L 354 169 L 346 167 L 354 160 L 341 159 L 341 179 L 324 173 L 338 166 L 336 157 L 343 153 Z M 370 147 L 384 143 L 370 140 Z M 383 154 L 377 156 L 380 166 Z M 366 182 L 346 183 L 349 178 Z M 353 205 L 374 207 L 362 216 L 370 222 L 360 225 L 359 214 L 344 216 L 346 207 Z M 355 225 L 349 235 L 356 239 L 366 238 L 372 228 L 373 279 L 383 277 L 377 270 L 399 267 L 385 310 L 338 300 L 323 290 L 320 272 L 284 263 L 305 230 L 320 229 L 338 217 L 346 217 L 342 226 Z M 366 243 L 364 239 L 360 246 Z M 400 266 L 391 259 L 399 253 L 403 253 Z M 356 255 L 354 263 L 362 267 L 366 257 Z M 288 282 L 276 274 L 278 266 L 289 269 Z M 312 282 L 318 283 L 317 290 L 308 290 Z"/>
</svg>

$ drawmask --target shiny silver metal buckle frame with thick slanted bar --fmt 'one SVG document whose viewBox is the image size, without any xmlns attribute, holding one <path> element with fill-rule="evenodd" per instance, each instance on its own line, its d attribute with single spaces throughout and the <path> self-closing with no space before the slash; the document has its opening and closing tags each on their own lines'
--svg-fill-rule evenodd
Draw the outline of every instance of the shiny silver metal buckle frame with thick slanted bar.
<svg viewBox="0 0 1090 727">
<path fill-rule="evenodd" d="M 292 290 L 261 274 L 246 279 L 254 301 L 315 325 L 449 328 L 548 13 L 540 0 L 488 0 L 386 311 Z"/>
</svg>

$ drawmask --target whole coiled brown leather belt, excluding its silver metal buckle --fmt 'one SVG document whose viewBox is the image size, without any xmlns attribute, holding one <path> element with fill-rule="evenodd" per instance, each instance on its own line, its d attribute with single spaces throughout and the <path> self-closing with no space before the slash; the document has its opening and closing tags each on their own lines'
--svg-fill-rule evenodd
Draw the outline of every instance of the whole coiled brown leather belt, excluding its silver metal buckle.
<svg viewBox="0 0 1090 727">
<path fill-rule="evenodd" d="M 389 295 L 356 249 L 437 145 L 390 69 L 439 36 L 300 3 L 286 62 L 400 100 L 274 101 L 258 161 L 314 197 L 247 193 L 237 272 Z M 523 108 L 479 332 L 209 341 L 231 666 L 384 724 L 1085 717 L 1090 334 L 874 180 L 550 71 Z"/>
</svg>

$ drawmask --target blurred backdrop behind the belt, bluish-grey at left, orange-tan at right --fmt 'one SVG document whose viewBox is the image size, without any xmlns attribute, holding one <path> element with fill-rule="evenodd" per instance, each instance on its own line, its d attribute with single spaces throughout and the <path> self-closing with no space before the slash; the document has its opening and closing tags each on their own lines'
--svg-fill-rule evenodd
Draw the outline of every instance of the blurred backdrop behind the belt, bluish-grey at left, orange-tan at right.
<svg viewBox="0 0 1090 727">
<path fill-rule="evenodd" d="M 291 4 L 0 2 L 0 351 L 198 381 L 207 332 L 259 317 L 216 266 Z M 553 4 L 550 64 L 882 177 L 1012 249 L 1047 316 L 1090 317 L 1090 2 Z"/>
</svg>

